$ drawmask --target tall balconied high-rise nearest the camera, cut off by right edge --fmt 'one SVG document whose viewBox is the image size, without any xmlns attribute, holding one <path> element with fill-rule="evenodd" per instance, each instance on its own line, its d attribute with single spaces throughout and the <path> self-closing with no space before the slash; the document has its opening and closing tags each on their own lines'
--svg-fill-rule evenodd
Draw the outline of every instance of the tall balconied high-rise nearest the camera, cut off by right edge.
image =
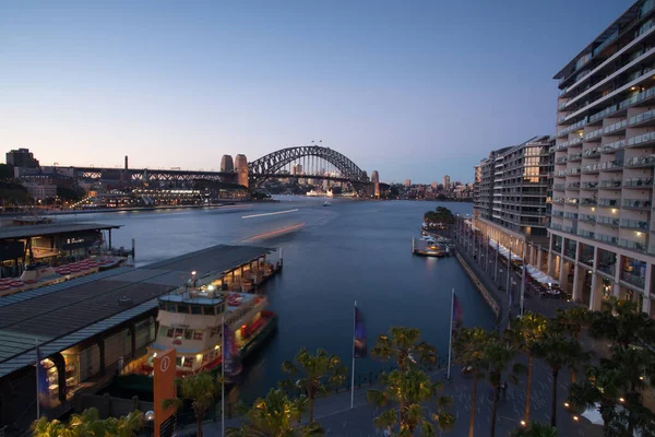
<svg viewBox="0 0 655 437">
<path fill-rule="evenodd" d="M 556 75 L 548 273 L 599 309 L 609 296 L 655 317 L 655 2 L 641 0 Z"/>
</svg>

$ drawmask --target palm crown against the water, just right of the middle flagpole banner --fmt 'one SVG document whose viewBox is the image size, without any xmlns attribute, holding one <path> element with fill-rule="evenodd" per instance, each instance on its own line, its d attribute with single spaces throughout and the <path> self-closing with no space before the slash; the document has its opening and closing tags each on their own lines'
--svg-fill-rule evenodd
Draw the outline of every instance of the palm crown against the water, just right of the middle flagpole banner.
<svg viewBox="0 0 655 437">
<path fill-rule="evenodd" d="M 371 355 L 379 359 L 393 359 L 398 368 L 405 371 L 407 367 L 419 364 L 433 365 L 437 362 L 437 349 L 420 341 L 418 328 L 391 327 L 388 334 L 380 334 Z"/>
</svg>

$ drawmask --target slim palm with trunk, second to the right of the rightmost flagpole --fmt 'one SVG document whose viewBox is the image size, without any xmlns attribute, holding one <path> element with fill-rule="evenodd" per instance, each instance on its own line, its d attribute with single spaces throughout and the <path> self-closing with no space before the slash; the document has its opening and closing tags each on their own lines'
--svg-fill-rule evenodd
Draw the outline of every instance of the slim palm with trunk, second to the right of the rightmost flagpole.
<svg viewBox="0 0 655 437">
<path fill-rule="evenodd" d="M 501 341 L 497 335 L 492 335 L 487 342 L 485 350 L 485 365 L 487 367 L 487 378 L 491 390 L 493 390 L 493 401 L 491 406 L 491 437 L 496 436 L 496 416 L 498 410 L 499 387 L 502 382 L 502 374 L 508 369 L 510 362 L 514 358 L 515 351 L 508 347 L 507 343 Z M 516 383 L 519 374 L 522 371 L 523 365 L 514 363 L 512 373 L 509 377 L 512 382 Z"/>
</svg>

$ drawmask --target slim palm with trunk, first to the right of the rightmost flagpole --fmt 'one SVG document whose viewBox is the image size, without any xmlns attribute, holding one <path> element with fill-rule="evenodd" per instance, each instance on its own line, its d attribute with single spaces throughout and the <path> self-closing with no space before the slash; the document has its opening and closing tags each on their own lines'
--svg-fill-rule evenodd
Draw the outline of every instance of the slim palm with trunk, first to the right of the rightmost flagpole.
<svg viewBox="0 0 655 437">
<path fill-rule="evenodd" d="M 475 409 L 477 400 L 477 383 L 485 376 L 485 350 L 491 340 L 491 334 L 481 328 L 462 328 L 457 331 L 453 342 L 455 362 L 473 374 L 473 392 L 471 395 L 471 418 L 468 423 L 468 437 L 475 435 Z"/>
</svg>

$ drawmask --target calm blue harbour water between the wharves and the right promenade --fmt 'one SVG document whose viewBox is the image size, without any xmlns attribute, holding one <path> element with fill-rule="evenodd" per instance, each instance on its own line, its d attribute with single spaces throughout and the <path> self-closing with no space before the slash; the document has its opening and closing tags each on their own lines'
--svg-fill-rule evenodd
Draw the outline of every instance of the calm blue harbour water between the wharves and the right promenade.
<svg viewBox="0 0 655 437">
<path fill-rule="evenodd" d="M 282 198 L 279 203 L 233 210 L 94 213 L 59 220 L 123 225 L 114 234 L 114 246 L 129 247 L 135 238 L 140 265 L 217 244 L 283 248 L 284 271 L 265 288 L 279 327 L 247 364 L 242 387 L 247 400 L 275 385 L 283 377 L 282 362 L 302 345 L 338 354 L 349 366 L 355 299 L 366 319 L 369 345 L 392 324 L 414 326 L 445 353 L 453 287 L 465 326 L 493 326 L 491 310 L 456 259 L 412 255 L 412 237 L 418 236 L 425 211 L 442 204 L 469 214 L 469 203 L 334 200 L 331 208 L 322 203 L 322 199 Z M 293 209 L 298 211 L 247 217 Z M 300 224 L 286 234 L 270 235 Z M 357 362 L 361 374 L 380 367 L 370 358 Z"/>
</svg>

